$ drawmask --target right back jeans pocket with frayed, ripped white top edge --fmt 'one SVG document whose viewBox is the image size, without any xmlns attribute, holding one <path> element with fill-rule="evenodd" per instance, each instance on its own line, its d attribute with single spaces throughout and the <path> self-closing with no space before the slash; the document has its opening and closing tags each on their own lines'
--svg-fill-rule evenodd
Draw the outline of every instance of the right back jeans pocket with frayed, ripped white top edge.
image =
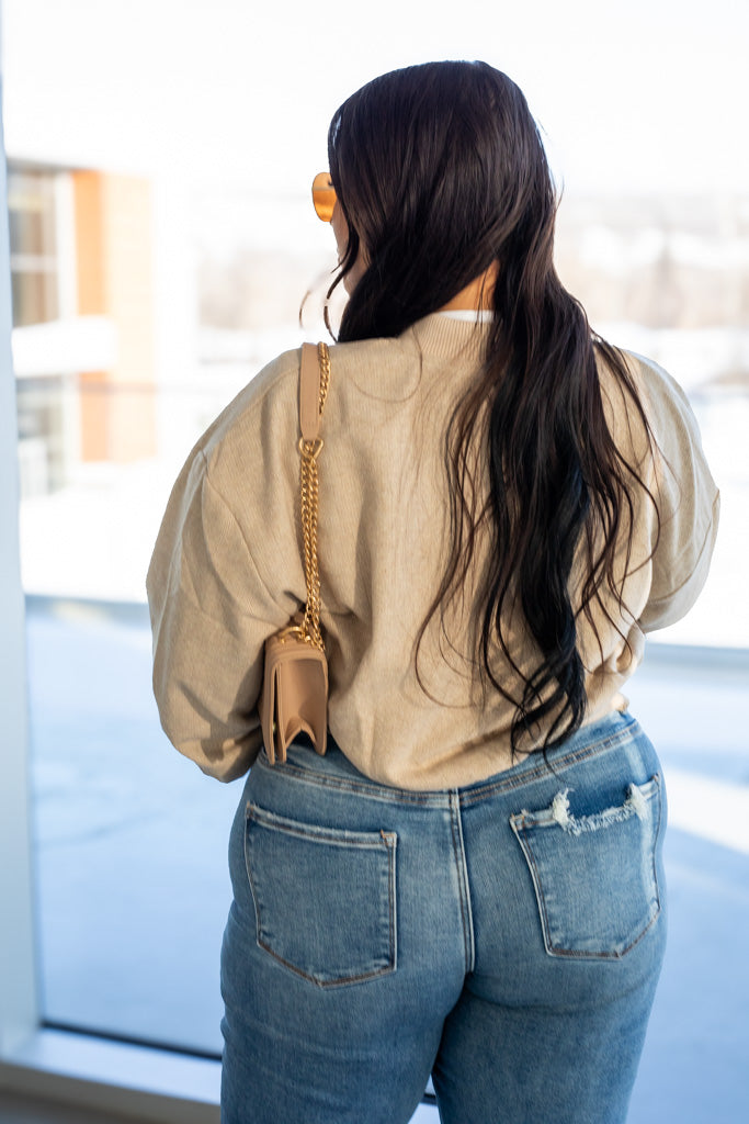
<svg viewBox="0 0 749 1124">
<path fill-rule="evenodd" d="M 660 913 L 660 777 L 630 785 L 620 806 L 587 815 L 574 815 L 568 794 L 510 817 L 533 880 L 546 951 L 620 958 Z"/>
</svg>

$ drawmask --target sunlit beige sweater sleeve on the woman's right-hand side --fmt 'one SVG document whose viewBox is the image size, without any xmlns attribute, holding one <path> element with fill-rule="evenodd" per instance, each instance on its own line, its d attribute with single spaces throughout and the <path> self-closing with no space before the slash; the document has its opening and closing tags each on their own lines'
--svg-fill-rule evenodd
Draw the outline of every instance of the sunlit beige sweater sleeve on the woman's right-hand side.
<svg viewBox="0 0 749 1124">
<path fill-rule="evenodd" d="M 720 492 L 682 388 L 650 361 L 640 360 L 640 374 L 657 444 L 652 480 L 659 520 L 652 522 L 650 591 L 639 625 L 655 632 L 681 620 L 706 581 Z"/>
</svg>

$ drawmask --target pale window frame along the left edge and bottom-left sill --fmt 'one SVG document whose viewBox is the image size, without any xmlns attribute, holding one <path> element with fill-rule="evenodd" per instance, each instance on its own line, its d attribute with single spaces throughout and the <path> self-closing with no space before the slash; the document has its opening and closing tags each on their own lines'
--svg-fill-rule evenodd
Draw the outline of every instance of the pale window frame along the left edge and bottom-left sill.
<svg viewBox="0 0 749 1124">
<path fill-rule="evenodd" d="M 11 357 L 8 178 L 0 73 L 0 1089 L 174 1124 L 219 1121 L 220 1064 L 42 1024 L 29 783 L 26 622 Z"/>
</svg>

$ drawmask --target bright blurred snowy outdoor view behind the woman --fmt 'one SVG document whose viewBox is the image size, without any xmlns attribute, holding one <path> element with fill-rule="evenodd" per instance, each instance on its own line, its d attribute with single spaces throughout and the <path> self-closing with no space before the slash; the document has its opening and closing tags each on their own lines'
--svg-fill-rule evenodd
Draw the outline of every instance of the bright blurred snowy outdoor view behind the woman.
<svg viewBox="0 0 749 1124">
<path fill-rule="evenodd" d="M 386 70 L 479 57 L 544 130 L 564 283 L 600 334 L 684 386 L 722 491 L 703 597 L 651 638 L 631 690 L 670 765 L 675 932 L 631 1118 L 741 1118 L 749 8 L 3 0 L 2 24 L 48 1025 L 220 1051 L 239 789 L 158 728 L 150 549 L 204 427 L 267 361 L 326 336 L 335 247 L 309 188 L 332 111 Z"/>
</svg>

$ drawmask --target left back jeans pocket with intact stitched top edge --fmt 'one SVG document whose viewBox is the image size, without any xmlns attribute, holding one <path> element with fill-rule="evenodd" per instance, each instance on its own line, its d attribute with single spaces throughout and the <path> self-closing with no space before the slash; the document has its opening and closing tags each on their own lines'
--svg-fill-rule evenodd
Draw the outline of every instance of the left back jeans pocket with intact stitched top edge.
<svg viewBox="0 0 749 1124">
<path fill-rule="evenodd" d="M 258 945 L 320 987 L 394 971 L 395 846 L 392 832 L 320 827 L 248 804 Z"/>
</svg>

